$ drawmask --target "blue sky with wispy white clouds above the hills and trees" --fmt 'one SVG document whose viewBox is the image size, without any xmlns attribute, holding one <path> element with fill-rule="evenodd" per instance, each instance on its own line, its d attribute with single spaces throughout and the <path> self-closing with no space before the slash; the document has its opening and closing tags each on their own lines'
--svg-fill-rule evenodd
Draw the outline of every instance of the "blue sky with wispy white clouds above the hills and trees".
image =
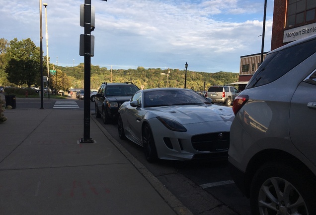
<svg viewBox="0 0 316 215">
<path fill-rule="evenodd" d="M 79 56 L 79 7 L 84 0 L 47 3 L 50 63 L 73 66 Z M 240 56 L 261 52 L 264 0 L 91 0 L 94 57 L 108 69 L 176 68 L 239 72 Z M 264 51 L 270 51 L 273 0 L 267 0 Z M 39 0 L 0 0 L 0 38 L 31 38 L 40 46 Z M 43 51 L 46 52 L 45 7 Z M 57 58 L 58 57 L 58 58 Z"/>
</svg>

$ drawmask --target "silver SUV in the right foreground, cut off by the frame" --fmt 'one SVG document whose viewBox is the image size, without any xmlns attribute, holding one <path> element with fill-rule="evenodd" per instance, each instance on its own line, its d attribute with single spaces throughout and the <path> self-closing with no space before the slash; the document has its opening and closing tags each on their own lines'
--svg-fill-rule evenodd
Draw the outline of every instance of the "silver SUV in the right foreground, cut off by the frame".
<svg viewBox="0 0 316 215">
<path fill-rule="evenodd" d="M 269 52 L 233 110 L 229 162 L 252 215 L 316 215 L 316 35 Z"/>
</svg>

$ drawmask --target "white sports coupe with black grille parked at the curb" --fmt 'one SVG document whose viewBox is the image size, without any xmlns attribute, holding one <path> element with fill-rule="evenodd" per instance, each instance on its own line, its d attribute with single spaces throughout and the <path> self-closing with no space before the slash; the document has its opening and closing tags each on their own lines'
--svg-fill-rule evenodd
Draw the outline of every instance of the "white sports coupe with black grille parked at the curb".
<svg viewBox="0 0 316 215">
<path fill-rule="evenodd" d="M 143 146 L 149 162 L 228 157 L 232 108 L 192 90 L 140 90 L 118 112 L 119 137 Z"/>
</svg>

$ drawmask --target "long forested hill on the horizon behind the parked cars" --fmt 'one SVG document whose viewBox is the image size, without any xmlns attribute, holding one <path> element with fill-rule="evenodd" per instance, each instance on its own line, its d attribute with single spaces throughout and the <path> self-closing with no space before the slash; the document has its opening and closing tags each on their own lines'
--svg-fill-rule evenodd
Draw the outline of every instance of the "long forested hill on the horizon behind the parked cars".
<svg viewBox="0 0 316 215">
<path fill-rule="evenodd" d="M 55 66 L 66 73 L 72 83 L 73 88 L 83 88 L 84 65 L 79 64 L 75 67 Z M 139 88 L 144 89 L 161 87 L 184 87 L 185 70 L 179 69 L 160 69 L 138 67 L 137 69 L 118 69 L 111 70 L 105 67 L 91 65 L 91 89 L 98 89 L 102 82 L 133 82 Z M 211 85 L 225 85 L 238 81 L 238 73 L 232 72 L 192 72 L 187 70 L 186 88 L 192 90 L 205 90 Z"/>
</svg>

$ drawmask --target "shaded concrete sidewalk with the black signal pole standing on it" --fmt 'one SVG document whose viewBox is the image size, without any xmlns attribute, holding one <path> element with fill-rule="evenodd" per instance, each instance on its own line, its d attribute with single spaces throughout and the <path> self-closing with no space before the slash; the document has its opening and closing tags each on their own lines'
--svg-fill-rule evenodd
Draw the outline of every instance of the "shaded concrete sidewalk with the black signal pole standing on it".
<svg viewBox="0 0 316 215">
<path fill-rule="evenodd" d="M 82 110 L 4 115 L 0 215 L 192 215 L 93 117 L 80 144 Z"/>
</svg>

